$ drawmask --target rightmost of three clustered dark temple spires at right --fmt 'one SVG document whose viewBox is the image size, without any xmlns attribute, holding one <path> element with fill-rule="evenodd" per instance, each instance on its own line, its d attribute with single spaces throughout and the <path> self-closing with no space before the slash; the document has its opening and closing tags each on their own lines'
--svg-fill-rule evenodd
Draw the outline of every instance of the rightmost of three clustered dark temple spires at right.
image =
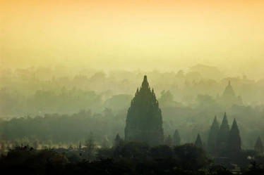
<svg viewBox="0 0 264 175">
<path fill-rule="evenodd" d="M 231 153 L 238 153 L 241 150 L 241 138 L 239 134 L 239 127 L 236 124 L 236 119 L 234 119 L 232 128 L 229 132 L 227 148 Z"/>
</svg>

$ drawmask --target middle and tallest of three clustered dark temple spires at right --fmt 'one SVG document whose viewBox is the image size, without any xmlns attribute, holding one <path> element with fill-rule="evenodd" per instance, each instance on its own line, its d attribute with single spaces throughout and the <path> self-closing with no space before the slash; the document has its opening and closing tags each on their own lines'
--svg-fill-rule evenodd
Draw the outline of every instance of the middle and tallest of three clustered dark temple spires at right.
<svg viewBox="0 0 264 175">
<path fill-rule="evenodd" d="M 222 155 L 227 152 L 227 141 L 229 137 L 229 124 L 227 121 L 227 113 L 224 112 L 224 118 L 217 134 L 217 153 Z"/>
</svg>

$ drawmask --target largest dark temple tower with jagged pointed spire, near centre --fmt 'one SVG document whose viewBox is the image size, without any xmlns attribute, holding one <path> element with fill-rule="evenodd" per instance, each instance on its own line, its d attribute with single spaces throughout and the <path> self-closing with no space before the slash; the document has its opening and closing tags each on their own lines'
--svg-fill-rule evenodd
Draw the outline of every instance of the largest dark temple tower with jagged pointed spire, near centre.
<svg viewBox="0 0 264 175">
<path fill-rule="evenodd" d="M 154 90 L 150 90 L 147 76 L 144 76 L 140 90 L 128 108 L 125 127 L 126 141 L 140 141 L 148 145 L 159 145 L 164 142 L 162 112 Z"/>
</svg>

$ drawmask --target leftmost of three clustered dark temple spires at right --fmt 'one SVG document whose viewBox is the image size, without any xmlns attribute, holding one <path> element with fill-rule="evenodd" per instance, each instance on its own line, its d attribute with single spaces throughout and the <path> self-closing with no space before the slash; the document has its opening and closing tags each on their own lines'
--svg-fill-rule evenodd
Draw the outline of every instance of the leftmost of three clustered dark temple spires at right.
<svg viewBox="0 0 264 175">
<path fill-rule="evenodd" d="M 212 122 L 212 126 L 209 131 L 208 136 L 208 151 L 209 153 L 216 152 L 216 142 L 217 142 L 217 134 L 219 132 L 219 123 L 217 122 L 217 117 L 215 116 L 214 122 Z"/>
</svg>

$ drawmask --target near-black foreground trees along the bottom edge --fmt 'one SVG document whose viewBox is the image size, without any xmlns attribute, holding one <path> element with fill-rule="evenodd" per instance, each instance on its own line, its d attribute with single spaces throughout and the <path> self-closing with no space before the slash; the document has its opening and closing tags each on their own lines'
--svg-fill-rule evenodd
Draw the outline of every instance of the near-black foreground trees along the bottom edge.
<svg viewBox="0 0 264 175">
<path fill-rule="evenodd" d="M 4 174 L 182 174 L 231 175 L 212 162 L 201 148 L 192 144 L 176 147 L 160 145 L 148 147 L 143 143 L 122 143 L 114 148 L 97 150 L 95 160 L 82 158 L 85 150 L 35 150 L 18 147 L 0 158 Z M 263 174 L 263 158 L 248 161 L 241 169 L 243 175 Z"/>
</svg>

